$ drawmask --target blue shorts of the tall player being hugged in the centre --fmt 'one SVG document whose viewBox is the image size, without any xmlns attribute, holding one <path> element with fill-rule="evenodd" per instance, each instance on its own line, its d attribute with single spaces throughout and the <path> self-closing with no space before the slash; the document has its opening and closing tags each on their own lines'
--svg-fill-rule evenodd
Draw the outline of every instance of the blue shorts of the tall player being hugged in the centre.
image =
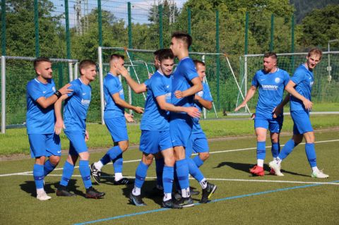
<svg viewBox="0 0 339 225">
<path fill-rule="evenodd" d="M 187 146 L 193 127 L 193 118 L 188 114 L 170 114 L 169 132 L 173 147 Z"/>
</svg>

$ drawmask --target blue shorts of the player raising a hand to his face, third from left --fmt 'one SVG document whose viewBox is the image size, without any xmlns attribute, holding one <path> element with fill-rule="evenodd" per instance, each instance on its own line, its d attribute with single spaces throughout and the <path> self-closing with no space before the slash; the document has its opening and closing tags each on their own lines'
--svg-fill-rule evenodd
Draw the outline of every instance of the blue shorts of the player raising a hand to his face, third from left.
<svg viewBox="0 0 339 225">
<path fill-rule="evenodd" d="M 105 124 L 111 134 L 113 142 L 129 140 L 125 116 L 105 118 Z"/>
</svg>

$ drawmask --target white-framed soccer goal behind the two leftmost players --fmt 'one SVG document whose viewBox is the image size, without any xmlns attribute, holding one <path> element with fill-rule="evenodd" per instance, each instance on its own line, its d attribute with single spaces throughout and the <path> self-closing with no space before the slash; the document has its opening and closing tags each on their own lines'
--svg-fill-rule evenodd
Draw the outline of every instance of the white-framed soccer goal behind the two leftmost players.
<svg viewBox="0 0 339 225">
<path fill-rule="evenodd" d="M 1 56 L 1 133 L 5 133 L 6 128 L 25 126 L 26 85 L 36 76 L 34 60 L 33 57 Z M 78 60 L 50 60 L 57 87 L 78 77 Z"/>
</svg>

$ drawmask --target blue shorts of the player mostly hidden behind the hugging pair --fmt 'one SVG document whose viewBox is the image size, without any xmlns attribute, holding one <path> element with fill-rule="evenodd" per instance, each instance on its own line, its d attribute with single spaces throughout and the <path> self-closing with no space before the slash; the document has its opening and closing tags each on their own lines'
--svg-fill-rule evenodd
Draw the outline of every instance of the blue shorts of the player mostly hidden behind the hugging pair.
<svg viewBox="0 0 339 225">
<path fill-rule="evenodd" d="M 192 133 L 186 147 L 186 157 L 191 157 L 193 153 L 209 152 L 208 142 L 205 133 Z"/>
</svg>

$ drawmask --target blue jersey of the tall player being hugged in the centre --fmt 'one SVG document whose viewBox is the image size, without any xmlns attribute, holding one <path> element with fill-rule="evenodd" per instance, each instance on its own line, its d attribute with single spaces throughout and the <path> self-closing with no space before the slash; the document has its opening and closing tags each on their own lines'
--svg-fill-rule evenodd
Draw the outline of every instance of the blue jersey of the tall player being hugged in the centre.
<svg viewBox="0 0 339 225">
<path fill-rule="evenodd" d="M 189 57 L 179 61 L 177 68 L 175 68 L 172 79 L 172 104 L 179 107 L 193 107 L 194 95 L 187 96 L 181 99 L 175 97 L 174 92 L 177 90 L 187 90 L 192 86 L 191 80 L 198 77 L 194 62 Z"/>
</svg>

